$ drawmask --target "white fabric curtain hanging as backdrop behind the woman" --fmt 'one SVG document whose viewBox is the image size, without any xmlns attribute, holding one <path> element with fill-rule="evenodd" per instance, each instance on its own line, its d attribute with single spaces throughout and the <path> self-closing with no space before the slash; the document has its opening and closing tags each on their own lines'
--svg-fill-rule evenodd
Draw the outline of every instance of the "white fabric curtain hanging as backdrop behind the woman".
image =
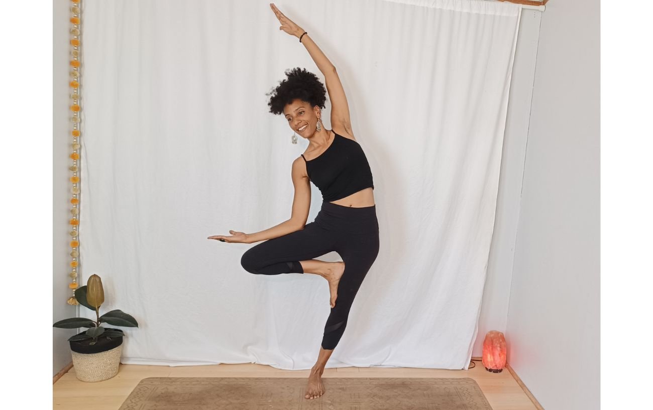
<svg viewBox="0 0 653 410">
<path fill-rule="evenodd" d="M 123 363 L 315 364 L 327 281 L 249 274 L 240 257 L 255 244 L 206 239 L 291 215 L 291 163 L 308 142 L 291 144 L 265 93 L 292 67 L 324 77 L 268 4 L 83 2 L 79 279 L 101 276 L 101 313 L 140 323 L 123 328 Z M 520 7 L 275 4 L 338 69 L 374 174 L 381 249 L 327 367 L 467 369 Z M 328 128 L 329 116 L 327 101 Z M 312 189 L 308 222 L 322 200 Z"/>
</svg>

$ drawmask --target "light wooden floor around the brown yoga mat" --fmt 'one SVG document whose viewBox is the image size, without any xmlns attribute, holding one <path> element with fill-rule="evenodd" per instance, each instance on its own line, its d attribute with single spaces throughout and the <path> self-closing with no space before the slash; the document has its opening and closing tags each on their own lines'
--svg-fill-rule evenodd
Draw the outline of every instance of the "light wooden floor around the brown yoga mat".
<svg viewBox="0 0 653 410">
<path fill-rule="evenodd" d="M 537 410 L 511 373 L 486 371 L 481 362 L 470 370 L 421 368 L 327 368 L 322 377 L 471 377 L 481 386 L 494 410 Z M 53 387 L 53 409 L 118 410 L 138 381 L 146 377 L 304 377 L 310 370 L 279 370 L 261 364 L 216 364 L 211 366 L 142 366 L 120 364 L 112 379 L 85 383 L 75 377 L 71 368 Z M 328 394 L 328 390 L 325 394 Z M 320 400 L 320 399 L 314 399 Z"/>
</svg>

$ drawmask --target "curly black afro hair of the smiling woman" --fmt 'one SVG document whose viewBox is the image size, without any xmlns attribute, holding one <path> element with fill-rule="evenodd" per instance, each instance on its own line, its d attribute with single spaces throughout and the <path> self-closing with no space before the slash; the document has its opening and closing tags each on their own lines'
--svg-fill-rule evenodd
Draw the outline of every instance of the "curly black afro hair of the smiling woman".
<svg viewBox="0 0 653 410">
<path fill-rule="evenodd" d="M 296 67 L 285 71 L 287 78 L 266 95 L 270 97 L 270 112 L 272 114 L 283 114 L 283 107 L 291 104 L 295 99 L 301 99 L 313 106 L 325 108 L 327 101 L 327 89 L 315 74 L 306 69 Z"/>
</svg>

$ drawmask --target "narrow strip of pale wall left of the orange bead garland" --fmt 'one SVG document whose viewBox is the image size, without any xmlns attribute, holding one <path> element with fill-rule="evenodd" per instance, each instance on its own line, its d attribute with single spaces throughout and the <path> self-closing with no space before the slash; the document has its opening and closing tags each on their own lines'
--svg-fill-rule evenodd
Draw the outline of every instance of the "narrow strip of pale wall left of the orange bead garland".
<svg viewBox="0 0 653 410">
<path fill-rule="evenodd" d="M 68 221 L 71 217 L 71 183 L 68 180 L 71 160 L 71 123 L 69 101 L 69 7 L 68 0 L 53 0 L 52 9 L 52 323 L 75 317 L 77 309 L 66 303 L 72 294 L 68 289 L 70 277 L 71 236 Z M 52 375 L 72 362 L 67 339 L 76 334 L 74 329 L 52 328 Z"/>
</svg>

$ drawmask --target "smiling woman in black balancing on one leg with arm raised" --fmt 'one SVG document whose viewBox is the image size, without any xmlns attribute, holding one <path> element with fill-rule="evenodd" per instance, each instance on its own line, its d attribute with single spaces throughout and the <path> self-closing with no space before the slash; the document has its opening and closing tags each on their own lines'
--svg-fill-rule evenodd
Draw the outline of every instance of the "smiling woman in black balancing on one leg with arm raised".
<svg viewBox="0 0 653 410">
<path fill-rule="evenodd" d="M 349 107 L 334 65 L 301 27 L 274 4 L 279 29 L 298 37 L 324 74 L 331 100 L 331 127 L 321 122 L 325 87 L 315 74 L 302 69 L 287 71 L 287 79 L 268 95 L 270 112 L 283 114 L 288 125 L 309 141 L 306 151 L 293 162 L 295 185 L 291 218 L 275 227 L 246 234 L 209 239 L 255 245 L 242 255 L 241 264 L 252 274 L 316 274 L 327 279 L 331 311 L 321 348 L 311 368 L 307 399 L 325 393 L 321 375 L 328 358 L 347 326 L 349 309 L 358 288 L 379 253 L 379 225 L 374 203 L 374 182 L 366 156 L 351 131 Z M 311 203 L 310 181 L 320 189 L 323 202 L 315 221 L 306 225 Z M 313 259 L 336 251 L 343 262 Z"/>
</svg>

